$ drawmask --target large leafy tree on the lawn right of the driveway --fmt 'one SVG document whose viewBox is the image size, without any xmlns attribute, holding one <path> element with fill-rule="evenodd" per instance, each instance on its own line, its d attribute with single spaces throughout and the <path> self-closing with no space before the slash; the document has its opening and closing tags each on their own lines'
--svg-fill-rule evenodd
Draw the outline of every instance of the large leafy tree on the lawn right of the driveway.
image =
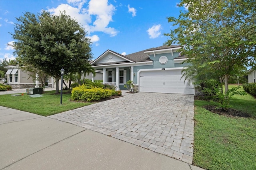
<svg viewBox="0 0 256 170">
<path fill-rule="evenodd" d="M 188 7 L 168 21 L 177 27 L 165 33 L 166 44 L 184 45 L 186 61 L 199 68 L 198 77 L 214 72 L 225 84 L 246 66 L 256 62 L 256 2 L 254 0 L 182 0 Z M 191 76 L 188 73 L 187 78 Z M 186 70 L 185 70 L 186 72 Z M 194 76 L 194 74 L 191 74 Z"/>
</svg>

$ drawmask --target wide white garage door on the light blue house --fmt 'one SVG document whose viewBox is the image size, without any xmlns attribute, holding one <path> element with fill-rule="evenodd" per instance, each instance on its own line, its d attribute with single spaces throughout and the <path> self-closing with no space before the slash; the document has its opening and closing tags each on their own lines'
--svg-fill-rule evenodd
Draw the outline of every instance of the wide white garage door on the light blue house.
<svg viewBox="0 0 256 170">
<path fill-rule="evenodd" d="M 140 92 L 195 94 L 192 84 L 184 83 L 181 70 L 154 70 L 140 72 Z"/>
</svg>

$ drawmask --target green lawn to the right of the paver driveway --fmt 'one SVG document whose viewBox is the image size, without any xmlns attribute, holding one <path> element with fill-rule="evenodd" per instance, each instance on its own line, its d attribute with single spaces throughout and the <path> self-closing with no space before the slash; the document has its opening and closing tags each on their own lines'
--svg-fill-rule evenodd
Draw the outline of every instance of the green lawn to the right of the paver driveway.
<svg viewBox="0 0 256 170">
<path fill-rule="evenodd" d="M 250 118 L 226 117 L 202 108 L 209 104 L 214 103 L 195 101 L 193 164 L 209 170 L 255 170 L 255 98 L 235 95 L 230 101 L 233 109 L 249 113 Z"/>
</svg>

